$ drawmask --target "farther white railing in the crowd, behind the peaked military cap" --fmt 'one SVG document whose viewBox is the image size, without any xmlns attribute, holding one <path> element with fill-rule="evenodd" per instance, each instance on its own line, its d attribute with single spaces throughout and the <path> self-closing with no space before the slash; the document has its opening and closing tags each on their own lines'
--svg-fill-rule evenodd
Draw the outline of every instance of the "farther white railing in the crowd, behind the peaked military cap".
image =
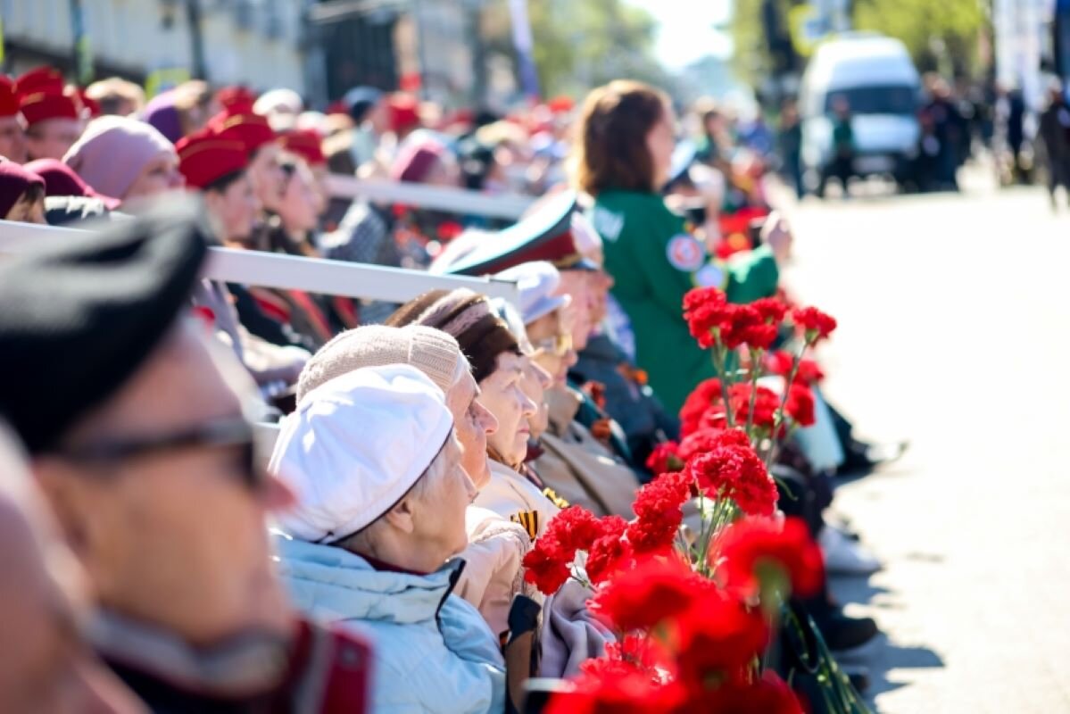
<svg viewBox="0 0 1070 714">
<path fill-rule="evenodd" d="M 327 177 L 327 192 L 334 198 L 366 198 L 370 201 L 415 206 L 460 215 L 483 215 L 517 221 L 534 202 L 531 196 L 505 194 L 488 196 L 463 188 L 443 188 L 418 183 L 362 180 L 333 173 Z"/>
</svg>

